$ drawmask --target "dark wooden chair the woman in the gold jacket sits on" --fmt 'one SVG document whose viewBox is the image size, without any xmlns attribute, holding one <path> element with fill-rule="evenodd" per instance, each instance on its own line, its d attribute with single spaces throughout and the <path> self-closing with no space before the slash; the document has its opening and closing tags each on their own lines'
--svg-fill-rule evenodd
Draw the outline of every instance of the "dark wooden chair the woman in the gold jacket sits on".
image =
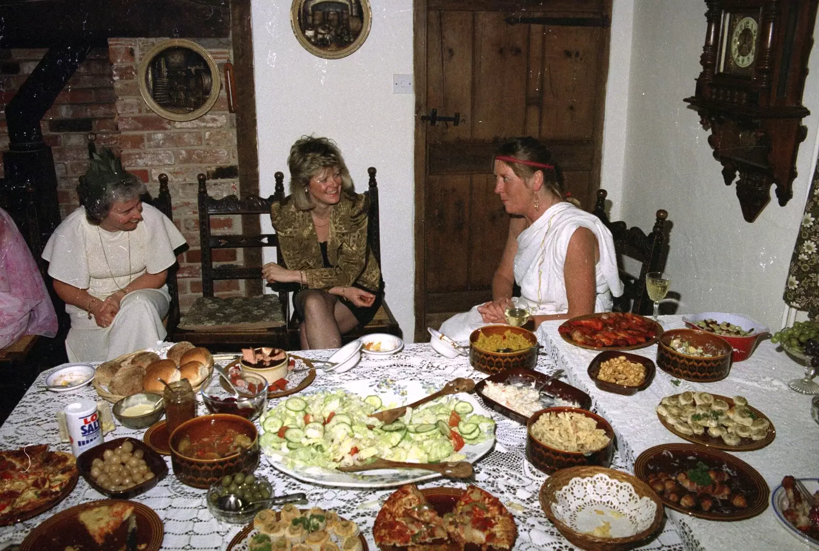
<svg viewBox="0 0 819 551">
<path fill-rule="evenodd" d="M 375 167 L 369 167 L 369 169 L 367 169 L 367 174 L 369 174 L 369 183 L 367 186 L 367 191 L 364 192 L 364 195 L 369 196 L 369 211 L 367 214 L 367 242 L 369 248 L 373 251 L 373 255 L 375 255 L 375 260 L 378 260 L 378 265 L 380 266 L 381 227 L 378 216 L 378 182 L 375 179 Z M 279 264 L 283 264 L 281 258 L 281 255 L 279 255 Z M 299 344 L 299 323 L 295 315 L 290 319 L 287 331 L 290 332 L 291 346 L 301 348 L 301 345 Z M 359 338 L 360 336 L 371 335 L 373 333 L 389 333 L 390 335 L 399 337 L 403 336 L 403 332 L 401 332 L 401 328 L 398 325 L 395 316 L 392 315 L 390 307 L 387 306 L 386 298 L 385 300 L 382 300 L 381 308 L 378 309 L 378 312 L 376 312 L 373 319 L 370 320 L 370 322 L 364 327 L 355 327 L 355 329 L 353 329 L 351 332 L 343 335 L 342 342 L 350 342 Z"/>
</svg>

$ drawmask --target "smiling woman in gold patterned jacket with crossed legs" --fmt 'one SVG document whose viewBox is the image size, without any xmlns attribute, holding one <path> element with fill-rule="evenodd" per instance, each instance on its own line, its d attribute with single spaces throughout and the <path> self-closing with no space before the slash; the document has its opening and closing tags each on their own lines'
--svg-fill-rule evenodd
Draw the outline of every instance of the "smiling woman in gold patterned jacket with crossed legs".
<svg viewBox="0 0 819 551">
<path fill-rule="evenodd" d="M 337 348 L 342 334 L 369 323 L 382 299 L 381 269 L 367 246 L 369 198 L 357 195 L 335 142 L 302 137 L 287 157 L 290 195 L 270 219 L 284 262 L 268 282 L 299 282 L 293 296 L 304 349 Z"/>
</svg>

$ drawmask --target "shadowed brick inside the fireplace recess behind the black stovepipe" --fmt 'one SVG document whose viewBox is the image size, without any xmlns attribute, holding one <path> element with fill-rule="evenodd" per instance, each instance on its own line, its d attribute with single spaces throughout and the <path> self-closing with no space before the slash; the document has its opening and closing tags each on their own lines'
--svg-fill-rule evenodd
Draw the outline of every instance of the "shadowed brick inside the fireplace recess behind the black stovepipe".
<svg viewBox="0 0 819 551">
<path fill-rule="evenodd" d="M 0 50 L 0 151 L 8 151 L 5 106 L 37 66 L 44 49 Z M 52 147 L 57 170 L 61 217 L 79 205 L 77 178 L 88 169 L 88 133 L 99 142 L 117 147 L 114 81 L 106 48 L 93 49 L 71 76 L 40 123 L 43 139 Z M 0 165 L 0 176 L 3 168 Z"/>
</svg>

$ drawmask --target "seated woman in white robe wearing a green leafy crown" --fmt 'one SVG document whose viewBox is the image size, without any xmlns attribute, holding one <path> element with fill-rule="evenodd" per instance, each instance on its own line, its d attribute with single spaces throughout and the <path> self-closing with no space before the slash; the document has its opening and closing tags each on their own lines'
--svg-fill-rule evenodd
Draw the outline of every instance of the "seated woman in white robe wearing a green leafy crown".
<svg viewBox="0 0 819 551">
<path fill-rule="evenodd" d="M 66 302 L 68 359 L 92 362 L 156 346 L 167 332 L 165 286 L 174 249 L 185 238 L 159 210 L 143 204 L 145 184 L 105 149 L 79 178 L 79 209 L 43 250 L 54 290 Z"/>
</svg>

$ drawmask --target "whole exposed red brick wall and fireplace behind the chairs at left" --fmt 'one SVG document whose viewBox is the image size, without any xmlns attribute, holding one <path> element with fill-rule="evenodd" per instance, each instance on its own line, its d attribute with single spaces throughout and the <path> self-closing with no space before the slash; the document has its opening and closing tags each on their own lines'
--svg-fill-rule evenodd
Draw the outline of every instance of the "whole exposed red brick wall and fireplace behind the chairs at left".
<svg viewBox="0 0 819 551">
<path fill-rule="evenodd" d="M 137 84 L 142 56 L 161 38 L 111 38 L 107 48 L 89 53 L 57 101 L 43 117 L 43 138 L 52 147 L 57 169 L 61 217 L 78 206 L 77 178 L 88 169 L 88 133 L 97 134 L 97 146 L 110 147 L 122 156 L 125 169 L 158 192 L 159 174 L 168 174 L 174 203 L 174 224 L 190 249 L 179 256 L 179 305 L 185 312 L 201 296 L 201 253 L 197 218 L 197 174 L 208 176 L 208 190 L 217 198 L 238 193 L 236 120 L 229 113 L 224 92 L 224 63 L 229 61 L 229 40 L 199 41 L 219 67 L 222 84 L 215 106 L 197 120 L 174 122 L 156 115 L 144 102 Z M 14 97 L 43 49 L 0 50 L 2 105 Z M 5 116 L 0 115 L 0 151 L 8 149 Z M 2 166 L 0 166 L 2 176 Z M 240 217 L 212 219 L 219 233 L 241 233 Z M 242 264 L 241 250 L 214 251 L 221 264 Z M 246 289 L 247 285 L 247 289 Z M 260 282 L 215 282 L 219 296 L 260 292 Z"/>
</svg>

